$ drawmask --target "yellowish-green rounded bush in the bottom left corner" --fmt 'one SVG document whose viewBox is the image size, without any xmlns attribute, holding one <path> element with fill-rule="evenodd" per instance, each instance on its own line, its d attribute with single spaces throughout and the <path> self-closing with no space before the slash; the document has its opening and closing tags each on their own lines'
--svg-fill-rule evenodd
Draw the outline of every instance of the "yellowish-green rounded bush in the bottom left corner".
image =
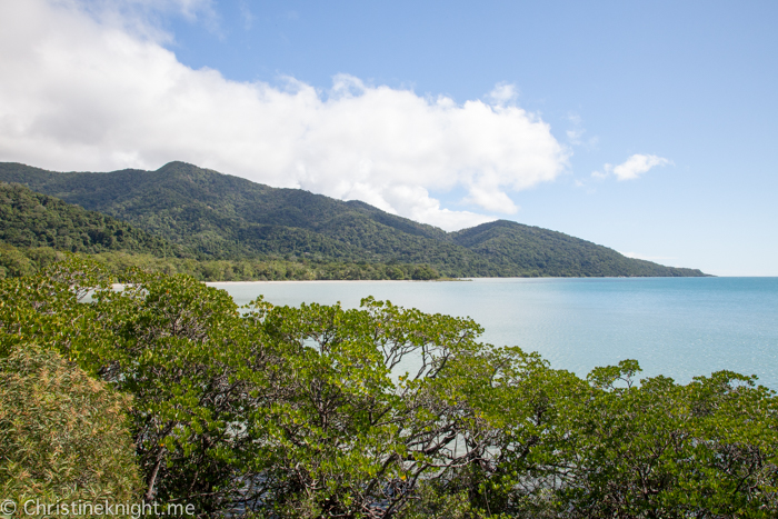
<svg viewBox="0 0 778 519">
<path fill-rule="evenodd" d="M 54 351 L 13 348 L 0 358 L 0 496 L 18 503 L 134 499 L 130 401 Z"/>
</svg>

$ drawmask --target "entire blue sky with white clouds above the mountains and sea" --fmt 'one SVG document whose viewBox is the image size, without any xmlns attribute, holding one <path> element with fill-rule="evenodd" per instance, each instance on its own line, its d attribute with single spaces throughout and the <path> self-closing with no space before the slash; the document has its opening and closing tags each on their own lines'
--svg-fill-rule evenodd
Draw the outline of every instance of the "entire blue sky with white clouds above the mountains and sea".
<svg viewBox="0 0 778 519">
<path fill-rule="evenodd" d="M 0 161 L 778 276 L 778 2 L 0 0 Z"/>
</svg>

